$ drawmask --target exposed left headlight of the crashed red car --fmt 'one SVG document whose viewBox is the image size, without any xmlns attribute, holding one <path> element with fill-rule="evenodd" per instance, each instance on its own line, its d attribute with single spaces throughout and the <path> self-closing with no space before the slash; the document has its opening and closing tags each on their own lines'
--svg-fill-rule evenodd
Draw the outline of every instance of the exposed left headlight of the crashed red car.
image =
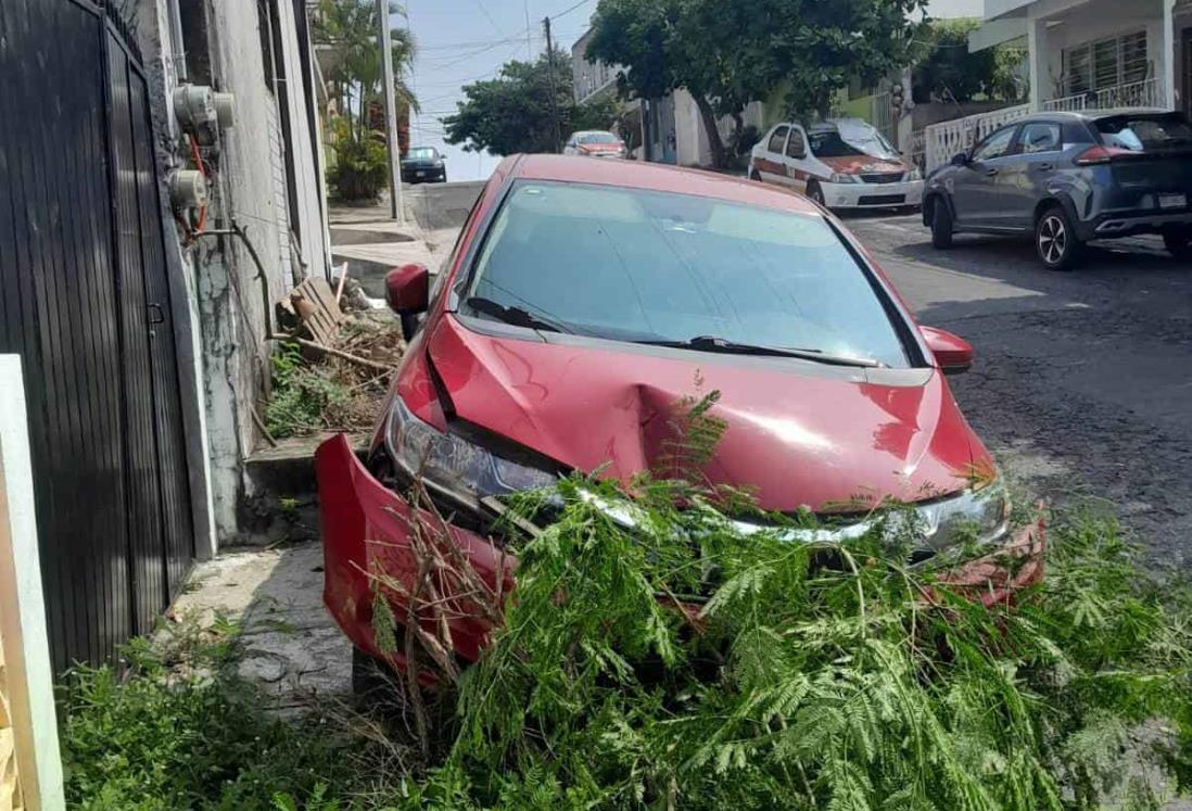
<svg viewBox="0 0 1192 811">
<path fill-rule="evenodd" d="M 386 417 L 385 450 L 410 478 L 421 476 L 429 489 L 467 501 L 546 488 L 558 481 L 552 472 L 439 431 L 416 417 L 399 396 L 392 398 Z"/>
</svg>

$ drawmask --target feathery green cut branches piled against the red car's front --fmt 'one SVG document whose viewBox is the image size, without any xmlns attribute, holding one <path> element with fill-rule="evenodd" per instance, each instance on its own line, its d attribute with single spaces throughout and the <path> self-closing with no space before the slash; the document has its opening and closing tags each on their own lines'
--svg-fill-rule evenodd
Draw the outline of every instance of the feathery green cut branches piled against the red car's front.
<svg viewBox="0 0 1192 811">
<path fill-rule="evenodd" d="M 1075 811 L 1188 785 L 1192 601 L 1112 521 L 1057 518 L 1045 581 L 985 608 L 884 527 L 791 544 L 690 478 L 634 494 L 631 528 L 615 485 L 559 485 L 411 805 Z"/>
</svg>

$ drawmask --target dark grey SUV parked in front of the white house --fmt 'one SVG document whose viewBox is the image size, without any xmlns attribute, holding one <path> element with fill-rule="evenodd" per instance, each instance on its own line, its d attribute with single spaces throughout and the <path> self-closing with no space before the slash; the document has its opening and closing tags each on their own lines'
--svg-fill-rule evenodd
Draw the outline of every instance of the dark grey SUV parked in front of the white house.
<svg viewBox="0 0 1192 811">
<path fill-rule="evenodd" d="M 1161 234 L 1192 261 L 1192 125 L 1154 110 L 1036 113 L 991 132 L 927 179 L 923 222 L 954 234 L 1032 235 L 1039 261 L 1075 267 L 1089 240 Z"/>
</svg>

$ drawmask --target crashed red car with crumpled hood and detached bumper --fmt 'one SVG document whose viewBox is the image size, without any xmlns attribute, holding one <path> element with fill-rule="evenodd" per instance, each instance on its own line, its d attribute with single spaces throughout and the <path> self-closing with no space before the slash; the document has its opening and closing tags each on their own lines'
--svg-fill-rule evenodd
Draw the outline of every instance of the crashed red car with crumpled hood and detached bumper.
<svg viewBox="0 0 1192 811">
<path fill-rule="evenodd" d="M 368 656 L 381 651 L 367 572 L 409 584 L 416 569 L 411 508 L 391 488 L 421 472 L 495 583 L 511 562 L 488 539 L 486 496 L 569 470 L 627 482 L 669 447 L 682 401 L 713 390 L 727 423 L 713 482 L 751 488 L 768 510 L 915 502 L 921 555 L 975 522 L 991 550 L 1031 558 L 960 572 L 987 602 L 1042 571 L 1042 527 L 1011 537 L 1001 483 L 971 487 L 995 469 L 944 377 L 971 347 L 918 327 L 864 248 L 803 198 L 652 165 L 510 157 L 434 283 L 416 265 L 387 283 L 411 340 L 366 464 L 342 437 L 317 456 L 324 600 Z M 455 652 L 474 660 L 490 630 L 453 620 Z"/>
</svg>

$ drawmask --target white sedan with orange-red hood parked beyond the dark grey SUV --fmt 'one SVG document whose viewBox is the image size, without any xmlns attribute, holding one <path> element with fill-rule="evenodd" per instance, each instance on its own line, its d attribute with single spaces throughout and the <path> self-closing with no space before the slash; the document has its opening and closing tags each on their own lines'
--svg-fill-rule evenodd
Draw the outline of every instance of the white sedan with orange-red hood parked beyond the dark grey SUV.
<svg viewBox="0 0 1192 811">
<path fill-rule="evenodd" d="M 913 209 L 923 199 L 923 173 L 859 118 L 776 124 L 753 147 L 749 177 L 833 210 Z"/>
</svg>

